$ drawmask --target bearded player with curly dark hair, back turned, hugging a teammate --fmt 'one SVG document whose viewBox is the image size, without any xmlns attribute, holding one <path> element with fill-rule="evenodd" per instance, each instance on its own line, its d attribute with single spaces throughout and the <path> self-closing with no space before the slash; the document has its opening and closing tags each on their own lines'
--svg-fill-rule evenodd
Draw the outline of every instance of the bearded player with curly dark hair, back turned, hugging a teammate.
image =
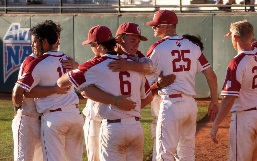
<svg viewBox="0 0 257 161">
<path fill-rule="evenodd" d="M 57 22 L 55 26 L 42 22 L 30 29 L 31 46 L 40 57 L 29 62 L 17 81 L 13 92 L 15 106 L 21 105 L 25 90 L 29 92 L 36 85 L 54 86 L 66 72 L 61 63 L 67 60 L 67 55 L 57 52 L 54 46 L 61 30 Z M 44 160 L 82 160 L 84 119 L 78 103 L 74 89 L 65 95 L 53 94 L 35 99 L 37 112 L 43 113 L 41 144 Z"/>
</svg>

